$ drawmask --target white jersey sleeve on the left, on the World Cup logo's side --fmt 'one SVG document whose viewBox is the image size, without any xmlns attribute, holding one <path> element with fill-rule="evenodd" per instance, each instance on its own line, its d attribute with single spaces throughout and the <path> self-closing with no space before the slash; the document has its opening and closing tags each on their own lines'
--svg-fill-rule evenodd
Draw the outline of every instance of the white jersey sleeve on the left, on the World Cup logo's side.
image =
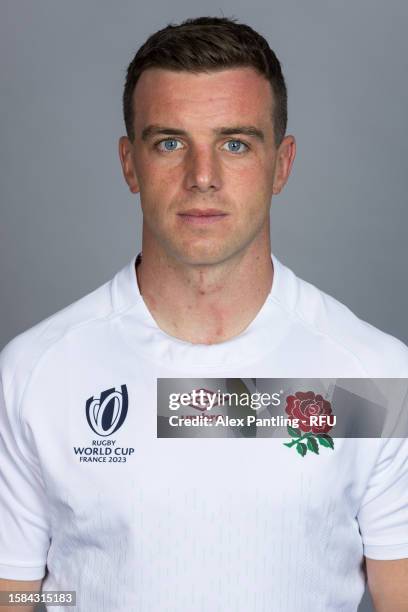
<svg viewBox="0 0 408 612">
<path fill-rule="evenodd" d="M 2 367 L 0 374 L 0 578 L 39 580 L 50 543 L 44 484 Z"/>
</svg>

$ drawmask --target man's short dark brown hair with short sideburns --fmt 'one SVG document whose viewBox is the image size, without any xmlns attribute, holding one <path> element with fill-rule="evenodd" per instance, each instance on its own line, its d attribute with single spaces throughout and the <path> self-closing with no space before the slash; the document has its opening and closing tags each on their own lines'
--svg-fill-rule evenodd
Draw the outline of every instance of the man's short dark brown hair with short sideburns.
<svg viewBox="0 0 408 612">
<path fill-rule="evenodd" d="M 263 36 L 227 17 L 186 19 L 149 36 L 127 68 L 123 115 L 128 138 L 133 141 L 135 137 L 132 97 L 144 70 L 205 72 L 240 66 L 255 68 L 271 84 L 275 143 L 279 146 L 287 124 L 287 90 L 280 62 Z"/>
</svg>

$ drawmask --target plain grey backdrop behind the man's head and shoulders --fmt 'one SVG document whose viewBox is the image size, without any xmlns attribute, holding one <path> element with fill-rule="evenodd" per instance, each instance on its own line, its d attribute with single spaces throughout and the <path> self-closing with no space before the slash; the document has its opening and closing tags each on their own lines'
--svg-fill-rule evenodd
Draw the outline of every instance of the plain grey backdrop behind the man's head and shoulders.
<svg viewBox="0 0 408 612">
<path fill-rule="evenodd" d="M 1 0 L 0 11 L 1 346 L 138 251 L 139 200 L 117 155 L 125 68 L 151 32 L 203 14 L 249 23 L 283 64 L 298 157 L 273 201 L 274 252 L 408 342 L 405 0 Z"/>
</svg>

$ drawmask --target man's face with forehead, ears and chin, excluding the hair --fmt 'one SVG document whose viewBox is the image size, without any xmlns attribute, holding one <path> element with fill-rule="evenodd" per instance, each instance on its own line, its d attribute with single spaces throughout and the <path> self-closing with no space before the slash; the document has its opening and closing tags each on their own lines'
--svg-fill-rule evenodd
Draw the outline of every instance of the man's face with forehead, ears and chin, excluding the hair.
<svg viewBox="0 0 408 612">
<path fill-rule="evenodd" d="M 150 246 L 203 265 L 269 236 L 271 197 L 287 180 L 295 145 L 287 137 L 276 148 L 262 75 L 149 69 L 133 103 L 135 139 L 121 138 L 119 150 L 130 190 L 140 191 Z"/>
</svg>

